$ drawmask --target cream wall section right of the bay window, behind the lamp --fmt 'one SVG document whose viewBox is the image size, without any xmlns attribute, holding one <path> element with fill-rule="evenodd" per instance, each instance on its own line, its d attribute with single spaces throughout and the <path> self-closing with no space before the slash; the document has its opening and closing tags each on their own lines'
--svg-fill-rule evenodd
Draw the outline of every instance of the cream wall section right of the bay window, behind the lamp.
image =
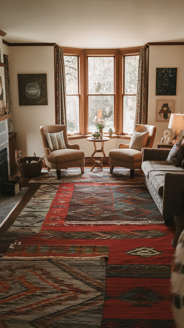
<svg viewBox="0 0 184 328">
<path fill-rule="evenodd" d="M 168 129 L 169 122 L 156 122 L 156 100 L 174 100 L 174 113 L 183 113 L 184 95 L 184 46 L 150 46 L 149 47 L 149 89 L 148 89 L 148 124 L 156 126 L 156 136 L 153 148 L 160 143 L 163 132 L 169 130 L 170 138 L 174 137 L 173 130 Z M 156 94 L 156 68 L 177 67 L 176 96 L 155 96 Z M 178 139 L 182 139 L 182 131 Z"/>
</svg>

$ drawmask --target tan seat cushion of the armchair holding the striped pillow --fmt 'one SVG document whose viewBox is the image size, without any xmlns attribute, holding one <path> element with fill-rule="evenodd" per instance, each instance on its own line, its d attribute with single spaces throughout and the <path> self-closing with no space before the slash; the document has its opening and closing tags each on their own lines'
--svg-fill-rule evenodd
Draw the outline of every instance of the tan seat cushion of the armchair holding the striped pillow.
<svg viewBox="0 0 184 328">
<path fill-rule="evenodd" d="M 59 164 L 83 159 L 84 156 L 85 155 L 82 150 L 65 148 L 54 150 L 50 155 L 47 156 L 47 159 L 51 163 Z"/>
</svg>

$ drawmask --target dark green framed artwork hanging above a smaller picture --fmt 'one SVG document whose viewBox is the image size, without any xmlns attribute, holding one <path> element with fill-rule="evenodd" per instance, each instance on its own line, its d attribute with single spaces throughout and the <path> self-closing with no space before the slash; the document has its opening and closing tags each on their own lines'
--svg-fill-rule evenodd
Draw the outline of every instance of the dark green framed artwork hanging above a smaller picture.
<svg viewBox="0 0 184 328">
<path fill-rule="evenodd" d="M 156 68 L 156 96 L 176 96 L 177 68 Z"/>
</svg>

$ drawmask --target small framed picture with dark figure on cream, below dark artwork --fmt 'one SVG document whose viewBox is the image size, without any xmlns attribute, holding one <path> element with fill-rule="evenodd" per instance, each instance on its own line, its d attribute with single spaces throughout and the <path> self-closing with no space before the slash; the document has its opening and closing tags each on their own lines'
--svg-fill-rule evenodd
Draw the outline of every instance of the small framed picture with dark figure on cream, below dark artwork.
<svg viewBox="0 0 184 328">
<path fill-rule="evenodd" d="M 156 100 L 156 122 L 167 122 L 174 113 L 174 100 Z"/>
</svg>

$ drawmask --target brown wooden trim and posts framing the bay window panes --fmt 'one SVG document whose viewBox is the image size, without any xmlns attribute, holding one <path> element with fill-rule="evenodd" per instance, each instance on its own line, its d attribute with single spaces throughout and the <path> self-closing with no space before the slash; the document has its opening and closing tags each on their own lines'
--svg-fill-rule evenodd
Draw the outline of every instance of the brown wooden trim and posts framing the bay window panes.
<svg viewBox="0 0 184 328">
<path fill-rule="evenodd" d="M 127 55 L 139 55 L 139 47 L 120 49 L 82 49 L 62 47 L 64 55 L 75 55 L 79 58 L 79 134 L 68 135 L 69 139 L 87 138 L 88 134 L 88 93 L 87 93 L 87 57 L 114 56 L 115 64 L 115 97 L 114 97 L 114 132 L 111 138 L 131 139 L 131 135 L 123 133 L 123 58 Z"/>
</svg>

